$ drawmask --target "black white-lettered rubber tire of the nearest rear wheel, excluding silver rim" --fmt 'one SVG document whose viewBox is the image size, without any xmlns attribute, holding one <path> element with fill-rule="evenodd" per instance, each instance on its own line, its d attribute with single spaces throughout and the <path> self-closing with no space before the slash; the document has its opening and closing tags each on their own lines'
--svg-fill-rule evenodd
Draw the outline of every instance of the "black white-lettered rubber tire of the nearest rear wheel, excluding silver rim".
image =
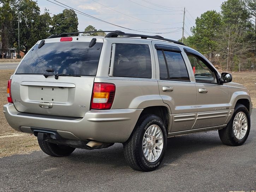
<svg viewBox="0 0 256 192">
<path fill-rule="evenodd" d="M 144 134 L 151 125 L 157 125 L 161 129 L 163 136 L 162 151 L 154 162 L 149 162 L 147 160 L 142 149 Z M 124 156 L 131 168 L 145 172 L 152 171 L 158 168 L 162 162 L 166 151 L 166 145 L 167 132 L 162 119 L 156 115 L 148 114 L 142 116 L 138 120 L 130 138 L 123 143 Z"/>
</svg>

